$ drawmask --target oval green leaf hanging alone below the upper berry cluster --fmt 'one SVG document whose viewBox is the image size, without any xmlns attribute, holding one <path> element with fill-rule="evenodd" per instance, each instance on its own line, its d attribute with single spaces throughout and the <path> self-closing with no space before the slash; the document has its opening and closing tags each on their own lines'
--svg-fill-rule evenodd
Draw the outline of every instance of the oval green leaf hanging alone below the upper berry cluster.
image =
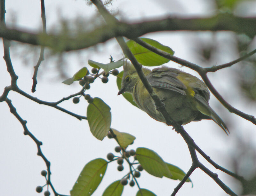
<svg viewBox="0 0 256 196">
<path fill-rule="evenodd" d="M 110 129 L 110 107 L 102 99 L 93 98 L 93 103 L 87 107 L 87 121 L 92 135 L 97 139 L 103 140 Z"/>
</svg>

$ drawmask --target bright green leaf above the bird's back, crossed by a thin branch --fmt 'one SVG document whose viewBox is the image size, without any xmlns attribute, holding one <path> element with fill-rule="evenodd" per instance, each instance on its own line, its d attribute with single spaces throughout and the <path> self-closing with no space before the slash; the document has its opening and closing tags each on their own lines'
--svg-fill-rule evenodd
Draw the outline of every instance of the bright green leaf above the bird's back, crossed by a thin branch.
<svg viewBox="0 0 256 196">
<path fill-rule="evenodd" d="M 140 38 L 140 39 L 162 51 L 168 52 L 171 55 L 174 54 L 174 51 L 170 47 L 165 46 L 157 42 L 156 40 L 149 39 L 149 38 Z M 160 55 L 144 48 L 143 46 L 134 42 L 133 40 L 127 41 L 126 44 L 128 45 L 129 49 L 131 50 L 135 58 L 144 66 L 163 65 L 164 63 L 167 63 L 170 61 L 169 59 L 161 57 Z"/>
</svg>

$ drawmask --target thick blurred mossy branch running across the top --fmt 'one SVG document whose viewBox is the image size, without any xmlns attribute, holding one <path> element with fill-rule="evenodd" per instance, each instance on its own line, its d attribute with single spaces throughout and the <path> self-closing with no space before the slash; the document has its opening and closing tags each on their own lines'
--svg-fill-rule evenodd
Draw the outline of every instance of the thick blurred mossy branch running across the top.
<svg viewBox="0 0 256 196">
<path fill-rule="evenodd" d="M 256 18 L 235 17 L 232 14 L 218 14 L 210 18 L 167 17 L 160 20 L 138 23 L 116 22 L 105 25 L 76 37 L 29 33 L 0 27 L 0 37 L 32 45 L 42 45 L 59 51 L 88 48 L 117 36 L 135 38 L 158 31 L 232 31 L 253 37 L 256 35 Z"/>
</svg>

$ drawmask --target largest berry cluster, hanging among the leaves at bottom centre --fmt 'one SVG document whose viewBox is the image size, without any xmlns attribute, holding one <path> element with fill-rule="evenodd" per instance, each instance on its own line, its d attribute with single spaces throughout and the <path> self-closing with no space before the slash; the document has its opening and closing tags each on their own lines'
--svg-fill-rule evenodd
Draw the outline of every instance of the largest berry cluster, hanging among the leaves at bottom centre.
<svg viewBox="0 0 256 196">
<path fill-rule="evenodd" d="M 110 138 L 110 139 L 113 138 L 113 135 L 111 134 L 111 132 L 108 132 L 108 138 Z M 122 185 L 128 184 L 128 179 L 130 179 L 130 175 L 132 175 L 132 179 L 130 180 L 129 185 L 134 186 L 135 182 L 134 182 L 133 178 L 140 177 L 140 171 L 143 170 L 141 165 L 138 165 L 138 167 L 136 169 L 133 167 L 133 165 L 138 164 L 138 162 L 134 162 L 134 161 L 137 160 L 135 150 L 127 151 L 125 149 L 122 149 L 120 146 L 116 146 L 115 147 L 115 152 L 120 153 L 121 156 L 115 156 L 113 153 L 108 153 L 107 154 L 107 159 L 109 161 L 116 161 L 117 162 L 117 164 L 118 164 L 117 170 L 118 171 L 123 171 L 124 170 L 124 166 L 123 166 L 124 160 L 126 160 L 127 163 L 130 165 L 130 168 L 132 168 L 132 170 L 130 170 L 130 172 L 121 179 L 120 183 Z M 130 160 L 129 160 L 129 158 L 131 156 L 133 156 L 133 159 L 134 159 L 133 162 L 130 162 Z"/>
</svg>

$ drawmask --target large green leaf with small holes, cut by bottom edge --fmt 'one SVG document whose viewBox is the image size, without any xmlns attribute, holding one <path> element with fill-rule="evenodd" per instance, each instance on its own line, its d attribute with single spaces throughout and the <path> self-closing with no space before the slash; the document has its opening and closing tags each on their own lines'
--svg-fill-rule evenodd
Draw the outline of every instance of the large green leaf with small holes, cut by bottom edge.
<svg viewBox="0 0 256 196">
<path fill-rule="evenodd" d="M 94 159 L 84 166 L 73 189 L 71 196 L 89 196 L 99 186 L 107 169 L 108 162 L 104 159 Z"/>
</svg>

